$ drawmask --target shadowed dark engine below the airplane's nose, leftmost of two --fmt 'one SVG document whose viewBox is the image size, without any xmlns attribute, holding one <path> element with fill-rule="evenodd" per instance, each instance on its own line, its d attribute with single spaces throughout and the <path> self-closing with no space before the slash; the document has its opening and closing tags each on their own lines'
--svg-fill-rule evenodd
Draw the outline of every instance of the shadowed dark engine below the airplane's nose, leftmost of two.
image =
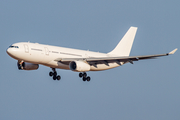
<svg viewBox="0 0 180 120">
<path fill-rule="evenodd" d="M 17 63 L 19 70 L 37 70 L 38 64 L 23 62 L 22 64 Z"/>
</svg>

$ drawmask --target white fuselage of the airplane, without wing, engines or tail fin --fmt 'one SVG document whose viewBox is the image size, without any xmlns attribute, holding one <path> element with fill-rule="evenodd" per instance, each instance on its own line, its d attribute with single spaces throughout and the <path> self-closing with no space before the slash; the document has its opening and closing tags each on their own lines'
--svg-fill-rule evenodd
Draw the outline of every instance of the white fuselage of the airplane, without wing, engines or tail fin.
<svg viewBox="0 0 180 120">
<path fill-rule="evenodd" d="M 55 61 L 57 58 L 96 58 L 96 57 L 109 57 L 112 55 L 64 48 L 64 47 L 56 47 L 50 45 L 43 45 L 38 43 L 29 43 L 29 42 L 20 42 L 15 43 L 12 46 L 18 46 L 18 48 L 8 48 L 7 53 L 14 59 L 18 61 L 33 63 L 33 64 L 42 64 L 51 68 L 60 68 L 69 70 L 69 64 L 64 64 L 61 62 Z M 121 65 L 123 62 L 121 62 Z M 117 63 L 109 63 L 98 64 L 97 66 L 90 66 L 90 71 L 100 71 L 107 70 L 114 67 L 120 66 Z"/>
</svg>

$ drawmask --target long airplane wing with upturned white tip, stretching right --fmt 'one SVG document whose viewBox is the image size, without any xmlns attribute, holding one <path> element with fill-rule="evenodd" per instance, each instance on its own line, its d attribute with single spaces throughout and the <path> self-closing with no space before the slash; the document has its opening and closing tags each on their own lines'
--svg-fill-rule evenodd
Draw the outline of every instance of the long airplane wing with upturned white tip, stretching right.
<svg viewBox="0 0 180 120">
<path fill-rule="evenodd" d="M 130 62 L 133 64 L 133 61 L 138 61 L 138 60 L 145 60 L 145 59 L 154 59 L 157 57 L 162 57 L 162 56 L 168 56 L 171 54 L 174 54 L 177 51 L 177 48 L 174 49 L 173 51 L 166 53 L 166 54 L 157 54 L 157 55 L 145 55 L 145 56 L 125 56 L 125 57 L 90 57 L 90 58 L 58 58 L 55 59 L 55 61 L 62 62 L 62 63 L 69 63 L 71 61 L 76 61 L 76 60 L 82 60 L 88 62 L 90 65 L 92 64 L 106 64 L 108 63 L 113 63 L 116 62 L 117 64 L 120 65 L 120 62 Z"/>
</svg>

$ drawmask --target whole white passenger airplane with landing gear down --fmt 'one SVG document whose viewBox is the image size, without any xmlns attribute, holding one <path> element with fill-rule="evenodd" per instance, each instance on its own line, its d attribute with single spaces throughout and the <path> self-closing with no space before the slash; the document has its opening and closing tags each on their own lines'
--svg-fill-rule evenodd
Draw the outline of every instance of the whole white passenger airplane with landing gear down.
<svg viewBox="0 0 180 120">
<path fill-rule="evenodd" d="M 174 54 L 177 48 L 165 54 L 129 56 L 136 35 L 137 27 L 130 27 L 117 46 L 109 53 L 99 53 L 65 47 L 43 45 L 39 43 L 19 42 L 12 44 L 6 50 L 7 54 L 18 60 L 19 70 L 37 70 L 39 64 L 50 67 L 49 76 L 60 80 L 56 68 L 80 72 L 83 81 L 90 81 L 88 71 L 102 71 L 133 61 L 152 59 Z"/>
</svg>

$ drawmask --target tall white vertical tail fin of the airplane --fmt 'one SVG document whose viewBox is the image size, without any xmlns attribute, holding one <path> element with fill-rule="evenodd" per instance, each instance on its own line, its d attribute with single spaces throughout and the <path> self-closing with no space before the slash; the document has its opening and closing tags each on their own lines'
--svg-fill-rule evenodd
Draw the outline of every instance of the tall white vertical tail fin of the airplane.
<svg viewBox="0 0 180 120">
<path fill-rule="evenodd" d="M 118 45 L 108 54 L 129 56 L 136 35 L 137 27 L 130 27 Z"/>
</svg>

